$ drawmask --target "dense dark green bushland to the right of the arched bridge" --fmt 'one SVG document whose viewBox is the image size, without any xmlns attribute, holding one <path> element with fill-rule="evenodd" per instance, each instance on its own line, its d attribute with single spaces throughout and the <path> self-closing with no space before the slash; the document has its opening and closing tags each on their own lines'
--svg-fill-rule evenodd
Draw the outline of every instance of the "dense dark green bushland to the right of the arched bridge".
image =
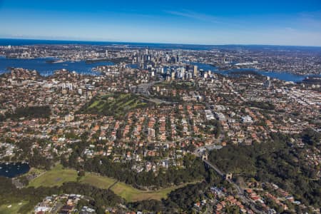
<svg viewBox="0 0 321 214">
<path fill-rule="evenodd" d="M 303 138 L 313 139 L 310 134 L 303 133 Z M 209 159 L 225 173 L 276 183 L 298 200 L 320 207 L 321 181 L 315 179 L 317 168 L 308 165 L 303 154 L 304 149 L 291 147 L 289 136 L 275 133 L 269 143 L 226 146 L 211 151 Z"/>
</svg>

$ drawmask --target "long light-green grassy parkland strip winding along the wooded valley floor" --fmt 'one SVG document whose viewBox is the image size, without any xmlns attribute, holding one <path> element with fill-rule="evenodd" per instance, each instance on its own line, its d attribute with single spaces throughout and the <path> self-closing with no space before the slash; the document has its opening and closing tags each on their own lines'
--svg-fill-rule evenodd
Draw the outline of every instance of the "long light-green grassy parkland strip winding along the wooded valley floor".
<svg viewBox="0 0 321 214">
<path fill-rule="evenodd" d="M 76 181 L 77 180 L 77 172 L 76 170 L 63 168 L 62 165 L 56 165 L 55 168 L 47 171 L 46 173 L 40 175 L 38 178 L 31 180 L 29 182 L 29 186 L 39 187 L 39 186 L 55 186 L 62 185 L 64 182 L 68 181 Z M 92 173 L 86 173 L 86 175 L 79 180 L 81 183 L 88 183 L 90 185 L 94 185 L 98 188 L 109 188 L 113 183 L 116 183 L 116 180 L 113 178 L 108 178 L 101 175 L 95 175 Z M 161 198 L 166 198 L 167 194 L 170 191 L 175 190 L 176 188 L 180 188 L 183 185 L 175 186 L 171 188 L 164 188 L 156 191 L 143 191 L 133 188 L 131 185 L 127 185 L 126 183 L 118 182 L 111 190 L 125 198 L 127 201 L 137 201 L 137 200 L 148 200 L 148 199 L 156 199 L 161 200 Z M 0 212 L 1 213 L 1 212 Z"/>
</svg>

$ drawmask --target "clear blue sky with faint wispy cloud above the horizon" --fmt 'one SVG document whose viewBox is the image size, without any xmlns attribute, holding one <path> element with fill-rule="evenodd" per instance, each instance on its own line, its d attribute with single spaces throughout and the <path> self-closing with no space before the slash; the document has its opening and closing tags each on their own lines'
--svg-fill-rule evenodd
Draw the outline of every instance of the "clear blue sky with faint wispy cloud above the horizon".
<svg viewBox="0 0 321 214">
<path fill-rule="evenodd" d="M 321 0 L 0 0 L 0 37 L 321 46 Z"/>
</svg>

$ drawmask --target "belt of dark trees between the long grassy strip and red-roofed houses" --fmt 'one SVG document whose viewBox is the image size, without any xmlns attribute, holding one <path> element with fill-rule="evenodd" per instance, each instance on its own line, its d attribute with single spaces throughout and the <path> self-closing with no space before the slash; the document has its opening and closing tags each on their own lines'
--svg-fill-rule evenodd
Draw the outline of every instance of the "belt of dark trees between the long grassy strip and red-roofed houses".
<svg viewBox="0 0 321 214">
<path fill-rule="evenodd" d="M 81 165 L 76 161 L 77 158 L 78 154 L 72 153 L 68 161 L 61 160 L 61 163 L 66 167 L 100 173 L 136 188 L 162 188 L 179 185 L 180 183 L 203 180 L 207 175 L 203 162 L 193 155 L 184 157 L 185 168 L 170 167 L 168 170 L 161 169 L 157 174 L 152 171 L 136 173 L 131 170 L 131 163 L 115 163 L 106 157 L 90 158 Z"/>
</svg>

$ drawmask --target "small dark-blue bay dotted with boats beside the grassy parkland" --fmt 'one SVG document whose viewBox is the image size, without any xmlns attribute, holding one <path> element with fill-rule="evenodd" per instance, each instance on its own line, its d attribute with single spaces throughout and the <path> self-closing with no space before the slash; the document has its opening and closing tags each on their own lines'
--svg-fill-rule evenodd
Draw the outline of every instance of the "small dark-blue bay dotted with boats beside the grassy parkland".
<svg viewBox="0 0 321 214">
<path fill-rule="evenodd" d="M 0 176 L 14 178 L 18 175 L 28 173 L 30 166 L 28 163 L 0 163 Z"/>
</svg>

